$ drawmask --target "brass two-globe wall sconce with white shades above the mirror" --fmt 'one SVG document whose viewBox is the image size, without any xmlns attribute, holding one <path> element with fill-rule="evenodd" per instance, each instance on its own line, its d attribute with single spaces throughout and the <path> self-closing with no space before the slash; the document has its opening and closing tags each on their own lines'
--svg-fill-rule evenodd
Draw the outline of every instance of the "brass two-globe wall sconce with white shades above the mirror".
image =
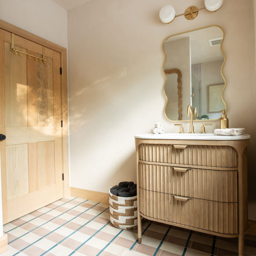
<svg viewBox="0 0 256 256">
<path fill-rule="evenodd" d="M 171 23 L 175 17 L 185 15 L 187 20 L 193 20 L 198 15 L 198 12 L 207 9 L 209 12 L 215 12 L 221 8 L 223 0 L 204 0 L 204 8 L 198 9 L 195 6 L 190 6 L 183 14 L 176 15 L 175 9 L 171 5 L 163 6 L 159 12 L 160 20 L 163 23 Z"/>
</svg>

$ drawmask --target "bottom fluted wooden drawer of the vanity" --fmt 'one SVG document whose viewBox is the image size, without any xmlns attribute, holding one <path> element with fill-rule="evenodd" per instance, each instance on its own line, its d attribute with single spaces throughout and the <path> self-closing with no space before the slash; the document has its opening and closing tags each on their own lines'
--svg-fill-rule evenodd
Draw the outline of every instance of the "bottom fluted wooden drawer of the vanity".
<svg viewBox="0 0 256 256">
<path fill-rule="evenodd" d="M 156 221 L 169 221 L 170 224 L 183 224 L 222 234 L 237 234 L 237 211 L 237 203 L 177 197 L 140 188 L 140 212 Z"/>
</svg>

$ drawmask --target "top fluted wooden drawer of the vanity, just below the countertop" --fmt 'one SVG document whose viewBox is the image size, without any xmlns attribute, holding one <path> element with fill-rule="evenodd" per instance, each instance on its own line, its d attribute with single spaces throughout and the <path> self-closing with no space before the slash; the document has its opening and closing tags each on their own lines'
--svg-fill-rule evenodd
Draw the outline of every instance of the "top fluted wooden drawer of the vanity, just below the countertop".
<svg viewBox="0 0 256 256">
<path fill-rule="evenodd" d="M 184 146 L 184 145 L 180 145 Z M 237 167 L 236 151 L 227 146 L 141 144 L 139 159 L 198 166 Z"/>
</svg>

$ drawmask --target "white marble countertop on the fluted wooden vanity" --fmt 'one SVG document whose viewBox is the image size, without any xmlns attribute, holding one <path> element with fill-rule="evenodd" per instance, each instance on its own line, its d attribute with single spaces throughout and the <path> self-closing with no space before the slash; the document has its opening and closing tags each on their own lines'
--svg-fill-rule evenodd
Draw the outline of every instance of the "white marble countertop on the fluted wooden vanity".
<svg viewBox="0 0 256 256">
<path fill-rule="evenodd" d="M 215 134 L 179 134 L 179 133 L 165 133 L 165 134 L 135 134 L 137 139 L 151 139 L 151 140 L 247 140 L 250 139 L 249 134 L 237 136 L 220 136 Z"/>
</svg>

